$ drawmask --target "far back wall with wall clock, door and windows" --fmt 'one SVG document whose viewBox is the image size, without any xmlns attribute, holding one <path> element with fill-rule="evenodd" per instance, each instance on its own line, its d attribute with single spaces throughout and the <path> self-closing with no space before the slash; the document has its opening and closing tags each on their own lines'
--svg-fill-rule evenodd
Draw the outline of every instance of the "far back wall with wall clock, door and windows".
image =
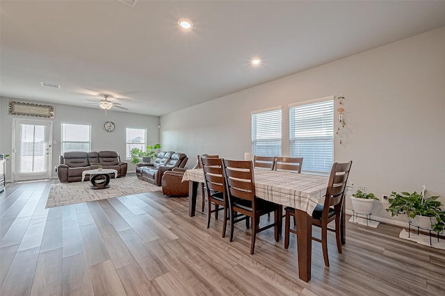
<svg viewBox="0 0 445 296">
<path fill-rule="evenodd" d="M 11 154 L 13 137 L 13 118 L 39 120 L 38 117 L 13 116 L 8 115 L 8 101 L 10 98 L 0 98 L 0 153 Z M 22 99 L 11 99 L 15 101 L 26 101 Z M 49 104 L 44 101 L 33 101 L 33 103 Z M 49 104 L 54 105 L 54 104 Z M 67 105 L 55 104 L 55 113 L 53 122 L 53 140 L 56 144 L 52 147 L 52 176 L 57 178 L 54 169 L 59 164 L 60 156 L 60 124 L 76 123 L 91 125 L 91 151 L 111 150 L 118 151 L 121 161 L 125 161 L 125 141 L 127 128 L 147 129 L 147 145 L 154 145 L 159 142 L 159 117 L 140 115 L 134 113 L 124 113 L 95 108 L 82 108 Z M 113 132 L 105 131 L 104 123 L 114 122 L 115 130 Z M 131 160 L 128 172 L 136 172 L 135 165 Z M 11 161 L 7 161 L 6 180 L 11 179 Z"/>
</svg>

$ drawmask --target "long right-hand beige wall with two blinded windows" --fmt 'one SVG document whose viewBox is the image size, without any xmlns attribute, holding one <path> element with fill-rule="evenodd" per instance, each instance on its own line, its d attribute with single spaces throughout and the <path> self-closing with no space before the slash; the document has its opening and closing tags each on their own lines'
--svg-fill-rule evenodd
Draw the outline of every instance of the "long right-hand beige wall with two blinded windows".
<svg viewBox="0 0 445 296">
<path fill-rule="evenodd" d="M 340 94 L 346 129 L 334 161 L 353 160 L 354 189 L 381 197 L 425 184 L 445 202 L 445 27 L 165 115 L 161 142 L 186 153 L 188 167 L 203 153 L 243 159 L 251 150 L 250 112 L 282 106 L 286 156 L 288 104 Z M 382 204 L 374 212 L 389 217 Z"/>
</svg>

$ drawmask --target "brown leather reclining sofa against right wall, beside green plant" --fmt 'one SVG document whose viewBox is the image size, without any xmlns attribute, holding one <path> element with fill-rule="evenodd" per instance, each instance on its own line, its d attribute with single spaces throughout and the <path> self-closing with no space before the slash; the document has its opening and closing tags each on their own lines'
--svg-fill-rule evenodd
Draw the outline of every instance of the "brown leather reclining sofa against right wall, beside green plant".
<svg viewBox="0 0 445 296">
<path fill-rule="evenodd" d="M 143 181 L 161 186 L 162 176 L 165 172 L 171 171 L 175 167 L 185 167 L 187 161 L 188 157 L 184 153 L 162 151 L 154 163 L 136 164 L 136 176 Z"/>
</svg>

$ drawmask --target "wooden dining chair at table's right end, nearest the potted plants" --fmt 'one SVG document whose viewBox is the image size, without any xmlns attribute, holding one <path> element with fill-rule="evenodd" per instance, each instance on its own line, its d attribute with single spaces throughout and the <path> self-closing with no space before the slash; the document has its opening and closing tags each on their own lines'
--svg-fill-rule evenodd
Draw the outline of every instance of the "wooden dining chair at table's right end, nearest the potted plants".
<svg viewBox="0 0 445 296">
<path fill-rule="evenodd" d="M 312 225 L 321 227 L 321 239 L 312 237 L 312 240 L 321 242 L 323 248 L 323 258 L 325 265 L 329 267 L 329 258 L 327 256 L 327 231 L 334 231 L 337 238 L 337 249 L 341 254 L 341 211 L 343 211 L 343 199 L 346 191 L 346 182 L 348 181 L 352 161 L 348 163 L 334 163 L 327 183 L 325 202 L 318 204 L 312 213 Z M 284 248 L 289 247 L 289 232 L 298 233 L 290 227 L 290 217 L 295 217 L 295 209 L 286 207 L 286 222 L 284 229 Z M 335 220 L 335 229 L 330 229 L 327 224 Z"/>
</svg>

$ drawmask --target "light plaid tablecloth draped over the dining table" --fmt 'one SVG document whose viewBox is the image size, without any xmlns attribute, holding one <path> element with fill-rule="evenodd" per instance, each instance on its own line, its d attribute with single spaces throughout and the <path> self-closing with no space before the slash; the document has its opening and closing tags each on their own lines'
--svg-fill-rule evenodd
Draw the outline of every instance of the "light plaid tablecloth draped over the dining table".
<svg viewBox="0 0 445 296">
<path fill-rule="evenodd" d="M 204 183 L 202 169 L 186 170 L 182 181 Z M 328 176 L 254 170 L 257 197 L 275 204 L 291 206 L 312 215 L 326 193 Z"/>
</svg>

